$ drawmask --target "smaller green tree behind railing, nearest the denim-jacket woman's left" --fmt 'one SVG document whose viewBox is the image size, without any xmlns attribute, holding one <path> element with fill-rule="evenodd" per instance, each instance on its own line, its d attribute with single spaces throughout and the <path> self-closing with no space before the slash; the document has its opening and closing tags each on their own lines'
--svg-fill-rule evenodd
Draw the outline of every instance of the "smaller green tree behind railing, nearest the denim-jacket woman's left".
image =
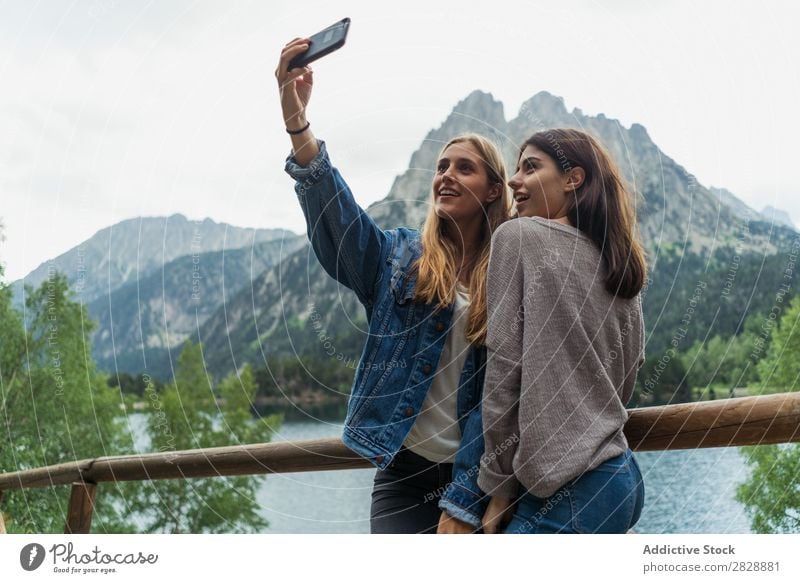
<svg viewBox="0 0 800 583">
<path fill-rule="evenodd" d="M 146 388 L 145 392 L 155 391 Z M 187 341 L 175 380 L 150 394 L 147 431 L 152 448 L 169 452 L 269 441 L 280 416 L 253 419 L 256 383 L 250 367 L 227 377 L 217 403 L 206 374 L 202 346 Z M 132 507 L 146 532 L 256 532 L 267 526 L 258 515 L 256 491 L 263 476 L 231 476 L 147 482 L 133 493 Z"/>
</svg>

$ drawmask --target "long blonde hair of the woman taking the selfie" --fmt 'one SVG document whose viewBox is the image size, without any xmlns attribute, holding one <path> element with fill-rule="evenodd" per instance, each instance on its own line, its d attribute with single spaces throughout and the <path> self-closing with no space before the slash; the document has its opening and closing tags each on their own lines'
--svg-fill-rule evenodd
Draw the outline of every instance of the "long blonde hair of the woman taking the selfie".
<svg viewBox="0 0 800 583">
<path fill-rule="evenodd" d="M 489 251 L 492 233 L 507 221 L 513 209 L 513 199 L 506 187 L 506 169 L 503 155 L 498 147 L 478 134 L 464 134 L 444 145 L 439 158 L 453 144 L 470 144 L 481 157 L 490 184 L 499 184 L 501 194 L 486 205 L 478 258 L 472 268 L 469 281 L 470 306 L 467 316 L 466 337 L 473 344 L 486 342 L 486 274 L 489 268 Z M 431 197 L 434 197 L 431 187 Z M 422 227 L 422 255 L 416 263 L 417 286 L 415 299 L 427 304 L 438 303 L 444 309 L 455 302 L 457 271 L 456 245 L 444 229 L 444 221 L 436 214 L 433 205 L 428 209 Z"/>
</svg>

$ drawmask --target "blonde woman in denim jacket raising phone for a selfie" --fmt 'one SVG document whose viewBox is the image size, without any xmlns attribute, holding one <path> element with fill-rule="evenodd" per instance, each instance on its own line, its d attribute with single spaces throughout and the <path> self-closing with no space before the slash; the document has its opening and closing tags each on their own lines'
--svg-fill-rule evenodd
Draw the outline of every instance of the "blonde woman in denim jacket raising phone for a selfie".
<svg viewBox="0 0 800 583">
<path fill-rule="evenodd" d="M 489 244 L 512 207 L 502 156 L 477 135 L 451 140 L 422 232 L 379 229 L 311 133 L 312 72 L 287 71 L 307 48 L 290 42 L 275 72 L 293 148 L 286 170 L 317 258 L 367 312 L 342 439 L 378 468 L 371 530 L 474 532 L 486 503 L 477 474 Z"/>
</svg>

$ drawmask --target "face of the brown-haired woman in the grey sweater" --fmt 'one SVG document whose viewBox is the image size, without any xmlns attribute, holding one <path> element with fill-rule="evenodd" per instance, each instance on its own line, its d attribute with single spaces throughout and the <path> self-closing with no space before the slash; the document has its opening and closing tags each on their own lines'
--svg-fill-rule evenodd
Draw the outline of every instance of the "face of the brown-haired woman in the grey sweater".
<svg viewBox="0 0 800 583">
<path fill-rule="evenodd" d="M 575 184 L 573 174 L 562 174 L 555 160 L 528 145 L 519 157 L 514 176 L 508 181 L 519 216 L 545 219 L 566 216 L 569 197 L 580 185 Z"/>
</svg>

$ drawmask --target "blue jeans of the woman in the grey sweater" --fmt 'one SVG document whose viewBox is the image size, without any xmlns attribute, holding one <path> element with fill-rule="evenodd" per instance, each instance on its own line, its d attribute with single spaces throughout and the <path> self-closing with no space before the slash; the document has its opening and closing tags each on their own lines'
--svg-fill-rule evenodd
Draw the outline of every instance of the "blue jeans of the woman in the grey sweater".
<svg viewBox="0 0 800 583">
<path fill-rule="evenodd" d="M 644 480 L 629 449 L 578 476 L 549 498 L 525 492 L 507 534 L 625 533 L 644 505 Z"/>
</svg>

